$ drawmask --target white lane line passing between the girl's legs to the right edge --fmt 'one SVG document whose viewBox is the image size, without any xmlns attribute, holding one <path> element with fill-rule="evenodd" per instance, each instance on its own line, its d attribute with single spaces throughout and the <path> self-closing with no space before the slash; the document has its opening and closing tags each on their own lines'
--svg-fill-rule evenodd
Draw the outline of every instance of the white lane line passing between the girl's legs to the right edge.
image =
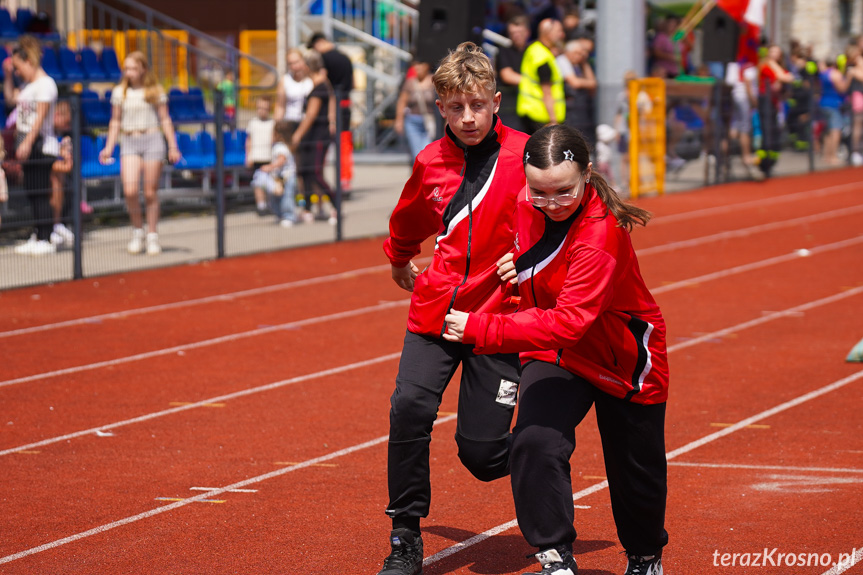
<svg viewBox="0 0 863 575">
<path fill-rule="evenodd" d="M 844 379 L 840 379 L 839 381 L 836 381 L 834 383 L 826 385 L 820 389 L 816 389 L 815 391 L 812 391 L 810 393 L 801 395 L 800 397 L 792 399 L 791 401 L 786 401 L 785 403 L 777 405 L 774 408 L 768 409 L 766 411 L 762 411 L 761 413 L 753 415 L 752 417 L 748 417 L 742 421 L 735 423 L 731 427 L 723 429 L 721 432 L 712 433 L 710 435 L 702 437 L 701 439 L 698 439 L 698 440 L 693 441 L 691 443 L 687 443 L 683 447 L 680 447 L 678 449 L 675 449 L 674 451 L 670 451 L 670 452 L 666 453 L 665 454 L 666 458 L 669 460 L 674 459 L 675 457 L 677 457 L 679 455 L 682 455 L 684 453 L 688 453 L 688 452 L 692 451 L 693 449 L 696 449 L 698 447 L 702 447 L 704 445 L 707 445 L 708 443 L 716 441 L 717 439 L 719 439 L 721 437 L 725 437 L 726 435 L 730 435 L 730 434 L 734 433 L 735 431 L 739 431 L 741 429 L 744 429 L 747 425 L 751 425 L 752 423 L 754 423 L 756 421 L 761 421 L 761 420 L 766 419 L 768 417 L 772 417 L 773 415 L 776 415 L 777 413 L 785 411 L 786 409 L 796 407 L 796 406 L 798 406 L 802 403 L 805 403 L 811 399 L 815 399 L 816 397 L 820 397 L 826 393 L 829 393 L 831 391 L 835 391 L 835 390 L 839 389 L 840 387 L 843 387 L 845 385 L 848 385 L 849 383 L 857 381 L 858 379 L 863 379 L 863 371 L 858 371 L 857 373 L 855 373 L 851 376 L 848 376 Z M 587 497 L 588 495 L 591 495 L 591 494 L 596 493 L 598 491 L 602 491 L 606 487 L 608 487 L 608 480 L 601 481 L 601 482 L 599 482 L 595 485 L 592 485 L 586 489 L 582 489 L 578 493 L 574 493 L 572 496 L 572 499 L 573 499 L 573 501 L 578 501 L 579 499 L 583 499 L 583 498 Z M 450 555 L 452 555 L 454 553 L 457 553 L 457 552 L 462 551 L 463 549 L 466 549 L 472 545 L 476 545 L 477 543 L 485 541 L 486 539 L 488 539 L 489 537 L 491 537 L 493 535 L 497 535 L 498 533 L 502 533 L 504 531 L 507 531 L 508 529 L 511 529 L 511 528 L 515 527 L 516 525 L 518 525 L 518 523 L 515 520 L 513 520 L 513 521 L 509 521 L 507 523 L 503 523 L 501 525 L 498 525 L 496 527 L 492 527 L 488 531 L 483 531 L 482 533 L 480 533 L 478 535 L 474 535 L 470 539 L 467 539 L 465 541 L 461 541 L 459 543 L 456 543 L 455 545 L 452 545 L 450 547 L 447 547 L 446 549 L 443 549 L 443 550 L 435 553 L 434 555 L 432 555 L 431 557 L 429 557 L 428 559 L 423 561 L 423 565 L 430 565 L 432 563 L 436 563 L 437 561 L 440 561 L 441 559 L 449 557 Z M 856 556 L 856 554 L 855 554 L 855 556 Z M 860 559 L 858 558 L 857 561 L 859 561 L 859 560 Z M 824 573 L 824 575 L 834 575 L 834 574 L 838 574 L 838 573 L 842 573 L 842 571 L 835 571 L 835 572 L 834 571 L 828 571 L 827 573 Z"/>
</svg>

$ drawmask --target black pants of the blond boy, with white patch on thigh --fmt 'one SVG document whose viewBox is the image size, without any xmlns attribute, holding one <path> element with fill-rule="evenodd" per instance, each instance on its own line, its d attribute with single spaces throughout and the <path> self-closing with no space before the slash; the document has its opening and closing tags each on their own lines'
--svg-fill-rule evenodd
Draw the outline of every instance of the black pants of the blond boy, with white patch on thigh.
<svg viewBox="0 0 863 575">
<path fill-rule="evenodd" d="M 444 390 L 462 366 L 455 439 L 462 464 L 478 479 L 509 474 L 517 354 L 476 355 L 473 346 L 405 335 L 396 389 L 390 398 L 387 515 L 418 524 L 429 513 L 429 443 Z M 410 522 L 410 521 L 408 521 Z"/>
</svg>

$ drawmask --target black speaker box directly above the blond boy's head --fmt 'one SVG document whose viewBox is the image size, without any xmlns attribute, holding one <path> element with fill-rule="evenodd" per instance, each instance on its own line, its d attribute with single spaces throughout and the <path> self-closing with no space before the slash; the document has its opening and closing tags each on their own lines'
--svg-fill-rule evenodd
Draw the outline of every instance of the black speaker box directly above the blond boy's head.
<svg viewBox="0 0 863 575">
<path fill-rule="evenodd" d="M 471 41 L 482 46 L 484 28 L 485 2 L 422 0 L 416 57 L 431 64 L 434 70 L 441 59 L 462 42 Z"/>
</svg>

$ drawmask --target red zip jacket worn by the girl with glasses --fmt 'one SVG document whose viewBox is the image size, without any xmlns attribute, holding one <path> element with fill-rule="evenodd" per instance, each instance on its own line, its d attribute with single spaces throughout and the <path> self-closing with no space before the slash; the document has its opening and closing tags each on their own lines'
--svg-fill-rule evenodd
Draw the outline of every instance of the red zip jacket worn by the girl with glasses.
<svg viewBox="0 0 863 575">
<path fill-rule="evenodd" d="M 627 401 L 665 402 L 665 321 L 629 233 L 593 186 L 562 222 L 519 202 L 515 247 L 519 312 L 471 314 L 464 341 L 477 353 L 520 351 L 523 364 L 560 365 Z"/>
</svg>

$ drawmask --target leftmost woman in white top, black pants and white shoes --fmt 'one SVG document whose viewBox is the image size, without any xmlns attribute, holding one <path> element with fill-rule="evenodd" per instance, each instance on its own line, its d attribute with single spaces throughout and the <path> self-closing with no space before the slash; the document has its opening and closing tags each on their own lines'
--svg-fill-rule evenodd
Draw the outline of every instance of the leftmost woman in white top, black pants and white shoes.
<svg viewBox="0 0 863 575">
<path fill-rule="evenodd" d="M 15 252 L 28 255 L 54 253 L 51 243 L 53 217 L 51 211 L 51 166 L 60 153 L 54 137 L 54 103 L 57 84 L 42 69 L 42 49 L 32 36 L 21 36 L 12 57 L 3 62 L 5 77 L 3 94 L 6 103 L 14 103 L 17 113 L 15 126 L 15 157 L 22 163 L 24 189 L 36 233 Z M 24 84 L 16 89 L 13 72 Z"/>
</svg>

